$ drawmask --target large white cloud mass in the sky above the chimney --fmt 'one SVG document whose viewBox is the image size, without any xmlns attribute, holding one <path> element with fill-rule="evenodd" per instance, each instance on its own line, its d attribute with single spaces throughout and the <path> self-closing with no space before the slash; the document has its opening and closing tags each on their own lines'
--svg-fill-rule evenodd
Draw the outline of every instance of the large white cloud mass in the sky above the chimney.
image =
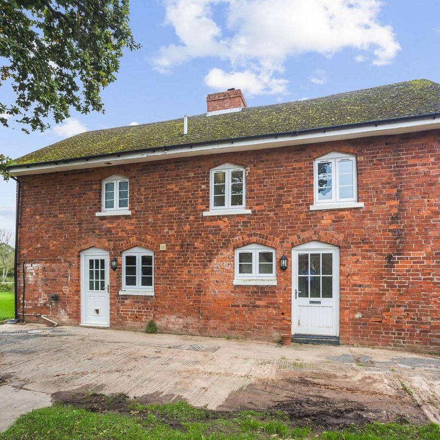
<svg viewBox="0 0 440 440">
<path fill-rule="evenodd" d="M 228 61 L 227 71 L 215 67 L 205 76 L 216 89 L 285 93 L 288 81 L 280 75 L 289 57 L 306 52 L 328 57 L 352 47 L 372 52 L 379 66 L 400 50 L 391 26 L 379 22 L 380 0 L 163 1 L 166 23 L 179 42 L 159 49 L 156 69 L 167 72 L 200 57 Z"/>
</svg>

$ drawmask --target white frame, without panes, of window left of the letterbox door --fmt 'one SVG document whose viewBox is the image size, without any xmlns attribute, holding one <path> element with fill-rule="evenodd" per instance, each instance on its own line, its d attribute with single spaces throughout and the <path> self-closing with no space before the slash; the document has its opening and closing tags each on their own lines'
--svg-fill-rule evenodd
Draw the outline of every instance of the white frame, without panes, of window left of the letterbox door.
<svg viewBox="0 0 440 440">
<path fill-rule="evenodd" d="M 261 252 L 272 253 L 272 273 L 259 273 L 259 254 Z M 238 272 L 239 255 L 241 253 L 252 254 L 252 273 L 244 274 Z M 244 286 L 276 286 L 277 285 L 277 254 L 275 249 L 263 244 L 252 243 L 242 248 L 235 249 L 235 278 L 234 285 Z"/>
</svg>

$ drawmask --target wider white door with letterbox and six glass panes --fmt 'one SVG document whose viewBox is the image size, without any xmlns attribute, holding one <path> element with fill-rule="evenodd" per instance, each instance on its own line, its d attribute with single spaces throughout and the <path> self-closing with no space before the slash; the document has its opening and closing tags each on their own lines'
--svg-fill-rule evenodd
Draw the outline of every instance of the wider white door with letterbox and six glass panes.
<svg viewBox="0 0 440 440">
<path fill-rule="evenodd" d="M 292 333 L 339 336 L 339 249 L 312 241 L 292 261 Z"/>
</svg>

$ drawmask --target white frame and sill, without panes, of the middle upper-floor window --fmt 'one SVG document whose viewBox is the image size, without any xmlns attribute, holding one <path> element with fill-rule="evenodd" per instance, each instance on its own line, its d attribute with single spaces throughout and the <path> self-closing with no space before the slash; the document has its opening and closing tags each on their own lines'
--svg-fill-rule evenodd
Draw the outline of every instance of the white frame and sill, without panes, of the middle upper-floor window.
<svg viewBox="0 0 440 440">
<path fill-rule="evenodd" d="M 233 171 L 243 173 L 243 203 L 241 205 L 231 205 L 231 175 Z M 225 173 L 225 206 L 214 206 L 214 174 Z M 227 214 L 250 214 L 251 210 L 246 208 L 246 169 L 243 166 L 233 163 L 225 163 L 219 167 L 212 168 L 209 173 L 209 211 L 203 215 L 227 215 Z"/>
</svg>

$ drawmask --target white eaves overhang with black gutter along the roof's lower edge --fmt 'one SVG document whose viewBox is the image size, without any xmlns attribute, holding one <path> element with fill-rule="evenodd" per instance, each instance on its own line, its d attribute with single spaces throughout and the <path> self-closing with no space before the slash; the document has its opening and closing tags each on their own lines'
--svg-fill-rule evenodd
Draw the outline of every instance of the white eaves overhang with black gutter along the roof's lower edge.
<svg viewBox="0 0 440 440">
<path fill-rule="evenodd" d="M 280 148 L 301 144 L 315 144 L 435 129 L 440 129 L 440 112 L 297 131 L 257 134 L 192 144 L 149 147 L 135 151 L 120 151 L 117 153 L 97 154 L 47 162 L 17 164 L 8 167 L 7 172 L 11 176 L 55 173 L 60 171 L 108 167 L 123 163 Z"/>
</svg>

